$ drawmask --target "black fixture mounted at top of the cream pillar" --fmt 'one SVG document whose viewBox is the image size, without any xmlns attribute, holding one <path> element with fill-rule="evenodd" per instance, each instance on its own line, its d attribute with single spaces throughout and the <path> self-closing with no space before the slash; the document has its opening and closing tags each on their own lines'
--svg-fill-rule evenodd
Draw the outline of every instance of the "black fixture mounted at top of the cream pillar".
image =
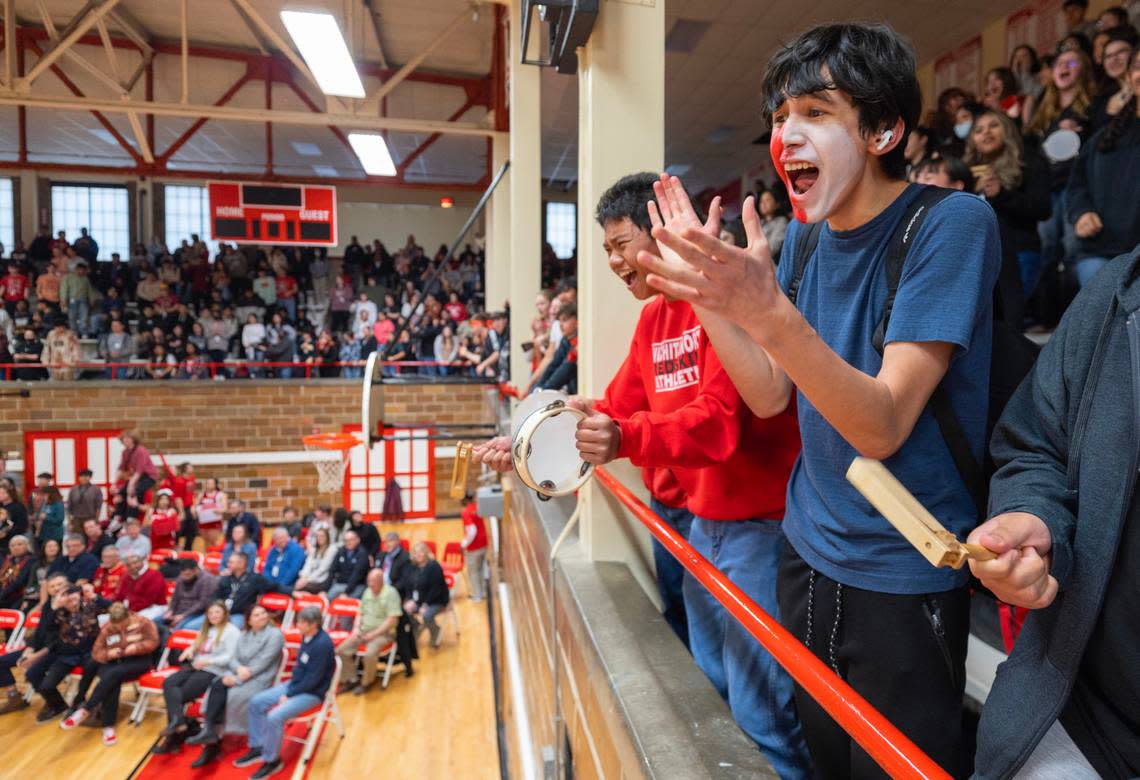
<svg viewBox="0 0 1140 780">
<path fill-rule="evenodd" d="M 589 40 L 597 5 L 598 0 L 522 0 L 522 64 L 575 73 L 576 50 Z"/>
</svg>

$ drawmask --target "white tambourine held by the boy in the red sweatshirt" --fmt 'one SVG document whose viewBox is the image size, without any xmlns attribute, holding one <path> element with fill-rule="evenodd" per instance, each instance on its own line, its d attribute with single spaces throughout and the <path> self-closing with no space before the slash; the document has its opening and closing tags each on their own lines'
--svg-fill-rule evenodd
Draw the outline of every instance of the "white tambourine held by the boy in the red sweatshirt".
<svg viewBox="0 0 1140 780">
<path fill-rule="evenodd" d="M 578 422 L 586 414 L 567 406 L 562 393 L 554 395 L 559 398 L 524 417 L 516 414 L 519 422 L 512 425 L 514 470 L 523 485 L 542 498 L 569 495 L 594 476 L 594 465 L 581 460 L 575 440 Z M 521 405 L 520 411 L 524 411 Z"/>
</svg>

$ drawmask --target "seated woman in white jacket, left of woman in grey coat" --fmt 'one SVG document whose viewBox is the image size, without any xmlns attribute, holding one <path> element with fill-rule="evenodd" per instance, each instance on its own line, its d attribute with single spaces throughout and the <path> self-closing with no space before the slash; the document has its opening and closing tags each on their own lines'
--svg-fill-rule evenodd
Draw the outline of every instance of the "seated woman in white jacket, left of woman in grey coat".
<svg viewBox="0 0 1140 780">
<path fill-rule="evenodd" d="M 180 668 L 162 683 L 162 698 L 166 702 L 166 728 L 154 753 L 172 753 L 186 738 L 185 707 L 205 693 L 213 681 L 226 674 L 237 652 L 242 632 L 229 621 L 225 602 L 215 601 L 206 608 L 206 619 L 198 629 L 194 644 L 178 657 Z"/>
</svg>

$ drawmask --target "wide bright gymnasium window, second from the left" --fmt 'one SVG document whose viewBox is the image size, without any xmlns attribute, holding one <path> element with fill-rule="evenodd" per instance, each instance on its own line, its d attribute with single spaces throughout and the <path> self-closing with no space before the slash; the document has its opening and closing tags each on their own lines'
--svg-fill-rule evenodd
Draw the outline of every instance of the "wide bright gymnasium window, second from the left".
<svg viewBox="0 0 1140 780">
<path fill-rule="evenodd" d="M 79 238 L 85 227 L 99 243 L 99 260 L 112 252 L 131 257 L 131 206 L 127 187 L 103 185 L 51 185 L 51 231 L 67 231 L 67 241 Z"/>
</svg>

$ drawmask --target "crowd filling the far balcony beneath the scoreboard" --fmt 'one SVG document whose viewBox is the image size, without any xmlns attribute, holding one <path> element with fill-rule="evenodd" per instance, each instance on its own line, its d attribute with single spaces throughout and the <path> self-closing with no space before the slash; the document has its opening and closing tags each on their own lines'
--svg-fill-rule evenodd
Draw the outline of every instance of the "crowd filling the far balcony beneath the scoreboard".
<svg viewBox="0 0 1140 780">
<path fill-rule="evenodd" d="M 70 242 L 42 227 L 0 247 L 0 379 L 356 377 L 374 351 L 412 364 L 391 373 L 497 377 L 506 312 L 484 310 L 482 252 L 445 260 L 410 235 L 394 252 L 352 236 L 340 261 L 314 247 L 211 253 L 197 235 L 124 260 L 87 228 Z"/>
</svg>

